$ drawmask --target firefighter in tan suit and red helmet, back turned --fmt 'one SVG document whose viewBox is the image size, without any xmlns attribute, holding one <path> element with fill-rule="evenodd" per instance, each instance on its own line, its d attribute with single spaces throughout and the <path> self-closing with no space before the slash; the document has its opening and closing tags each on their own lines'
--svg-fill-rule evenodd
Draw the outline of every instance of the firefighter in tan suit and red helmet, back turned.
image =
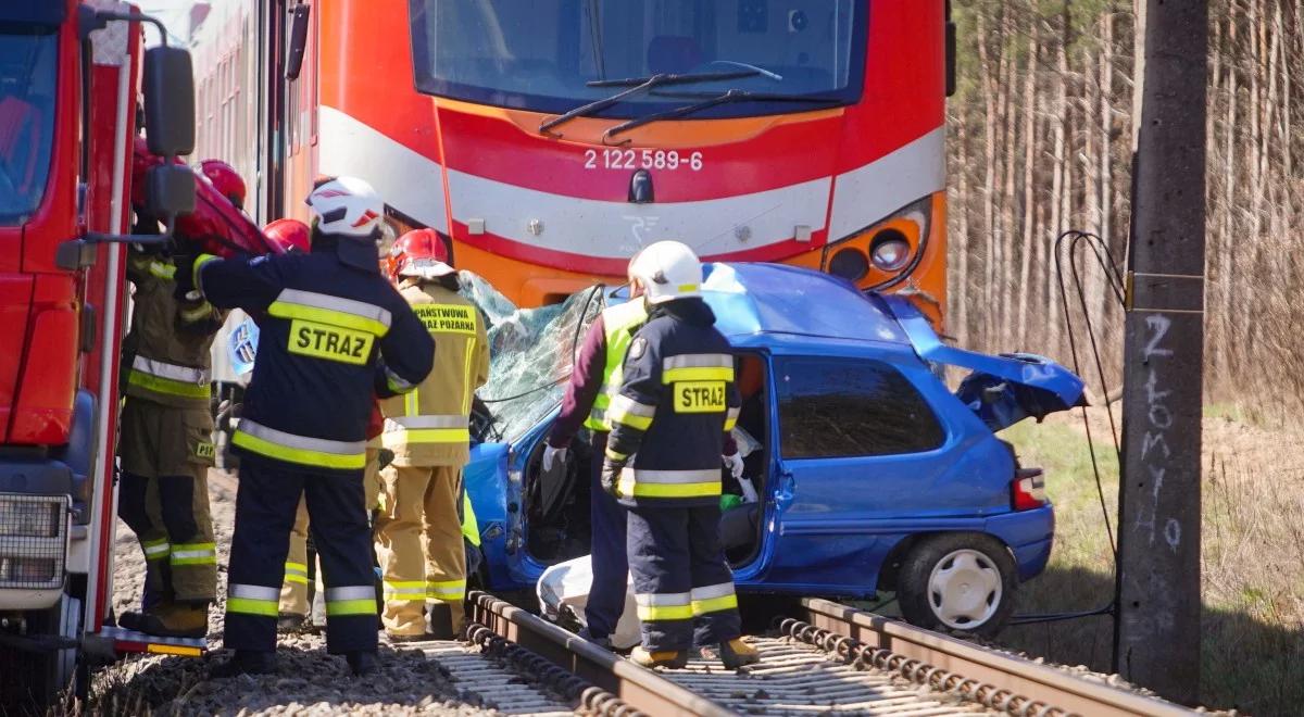
<svg viewBox="0 0 1304 717">
<path fill-rule="evenodd" d="M 471 402 L 489 378 L 489 342 L 480 312 L 458 295 L 456 270 L 434 229 L 399 237 L 389 266 L 438 349 L 421 386 L 381 403 L 382 442 L 394 451 L 394 463 L 381 472 L 383 510 L 376 525 L 382 622 L 394 641 L 450 639 L 464 622 L 462 468 L 469 459 Z"/>
</svg>

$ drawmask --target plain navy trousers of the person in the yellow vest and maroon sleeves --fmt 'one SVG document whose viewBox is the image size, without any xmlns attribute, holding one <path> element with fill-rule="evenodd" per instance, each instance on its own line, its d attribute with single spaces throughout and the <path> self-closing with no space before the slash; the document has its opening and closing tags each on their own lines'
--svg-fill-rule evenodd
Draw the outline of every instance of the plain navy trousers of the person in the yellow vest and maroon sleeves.
<svg viewBox="0 0 1304 717">
<path fill-rule="evenodd" d="M 588 471 L 593 584 L 588 589 L 584 622 L 593 637 L 606 637 L 615 632 L 615 624 L 625 611 L 625 585 L 630 571 L 625 550 L 626 511 L 602 490 L 601 484 L 606 435 L 604 432 L 593 432 L 593 459 Z"/>
</svg>

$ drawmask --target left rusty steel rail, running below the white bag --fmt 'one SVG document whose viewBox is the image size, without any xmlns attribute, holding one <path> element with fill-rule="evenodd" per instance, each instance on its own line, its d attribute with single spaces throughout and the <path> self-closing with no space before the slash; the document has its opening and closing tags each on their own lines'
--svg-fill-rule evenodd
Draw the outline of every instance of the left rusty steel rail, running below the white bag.
<svg viewBox="0 0 1304 717">
<path fill-rule="evenodd" d="M 471 619 L 645 714 L 724 717 L 725 707 L 623 660 L 572 632 L 484 593 L 467 596 Z"/>
</svg>

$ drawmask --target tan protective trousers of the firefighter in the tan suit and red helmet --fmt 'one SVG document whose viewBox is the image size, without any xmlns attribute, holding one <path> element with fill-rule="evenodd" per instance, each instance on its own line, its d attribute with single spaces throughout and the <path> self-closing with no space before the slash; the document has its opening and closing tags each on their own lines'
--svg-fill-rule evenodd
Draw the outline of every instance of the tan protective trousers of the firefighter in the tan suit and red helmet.
<svg viewBox="0 0 1304 717">
<path fill-rule="evenodd" d="M 426 601 L 449 604 L 454 615 L 449 627 L 456 630 L 467 592 L 467 554 L 458 518 L 462 467 L 389 465 L 381 472 L 381 485 L 376 553 L 385 580 L 385 631 L 425 634 Z M 442 628 L 432 627 L 436 632 Z"/>
</svg>

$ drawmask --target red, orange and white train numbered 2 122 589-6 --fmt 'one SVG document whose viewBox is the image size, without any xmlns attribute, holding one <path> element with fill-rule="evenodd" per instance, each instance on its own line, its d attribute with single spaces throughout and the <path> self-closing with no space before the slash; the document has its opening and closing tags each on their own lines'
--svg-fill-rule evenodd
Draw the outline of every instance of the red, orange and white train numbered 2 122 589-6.
<svg viewBox="0 0 1304 717">
<path fill-rule="evenodd" d="M 941 325 L 948 0 L 232 0 L 194 50 L 259 222 L 353 175 L 522 306 L 677 239 Z"/>
</svg>

